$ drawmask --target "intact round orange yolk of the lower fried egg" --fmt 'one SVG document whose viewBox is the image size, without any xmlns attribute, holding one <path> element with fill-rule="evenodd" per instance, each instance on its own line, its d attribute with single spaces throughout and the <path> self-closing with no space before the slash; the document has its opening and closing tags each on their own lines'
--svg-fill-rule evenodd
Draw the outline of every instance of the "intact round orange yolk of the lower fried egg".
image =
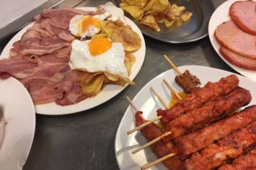
<svg viewBox="0 0 256 170">
<path fill-rule="evenodd" d="M 95 38 L 88 43 L 88 46 L 90 54 L 98 55 L 108 51 L 108 49 L 111 48 L 112 43 L 108 38 Z"/>
</svg>

